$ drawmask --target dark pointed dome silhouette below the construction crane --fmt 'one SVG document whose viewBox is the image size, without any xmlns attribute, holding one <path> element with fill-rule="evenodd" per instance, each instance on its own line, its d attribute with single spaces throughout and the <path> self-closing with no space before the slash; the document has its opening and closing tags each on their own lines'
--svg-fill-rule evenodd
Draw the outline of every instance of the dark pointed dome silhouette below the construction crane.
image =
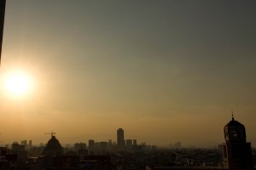
<svg viewBox="0 0 256 170">
<path fill-rule="evenodd" d="M 52 136 L 43 150 L 44 156 L 61 156 L 63 155 L 63 149 L 58 139 Z"/>
</svg>

